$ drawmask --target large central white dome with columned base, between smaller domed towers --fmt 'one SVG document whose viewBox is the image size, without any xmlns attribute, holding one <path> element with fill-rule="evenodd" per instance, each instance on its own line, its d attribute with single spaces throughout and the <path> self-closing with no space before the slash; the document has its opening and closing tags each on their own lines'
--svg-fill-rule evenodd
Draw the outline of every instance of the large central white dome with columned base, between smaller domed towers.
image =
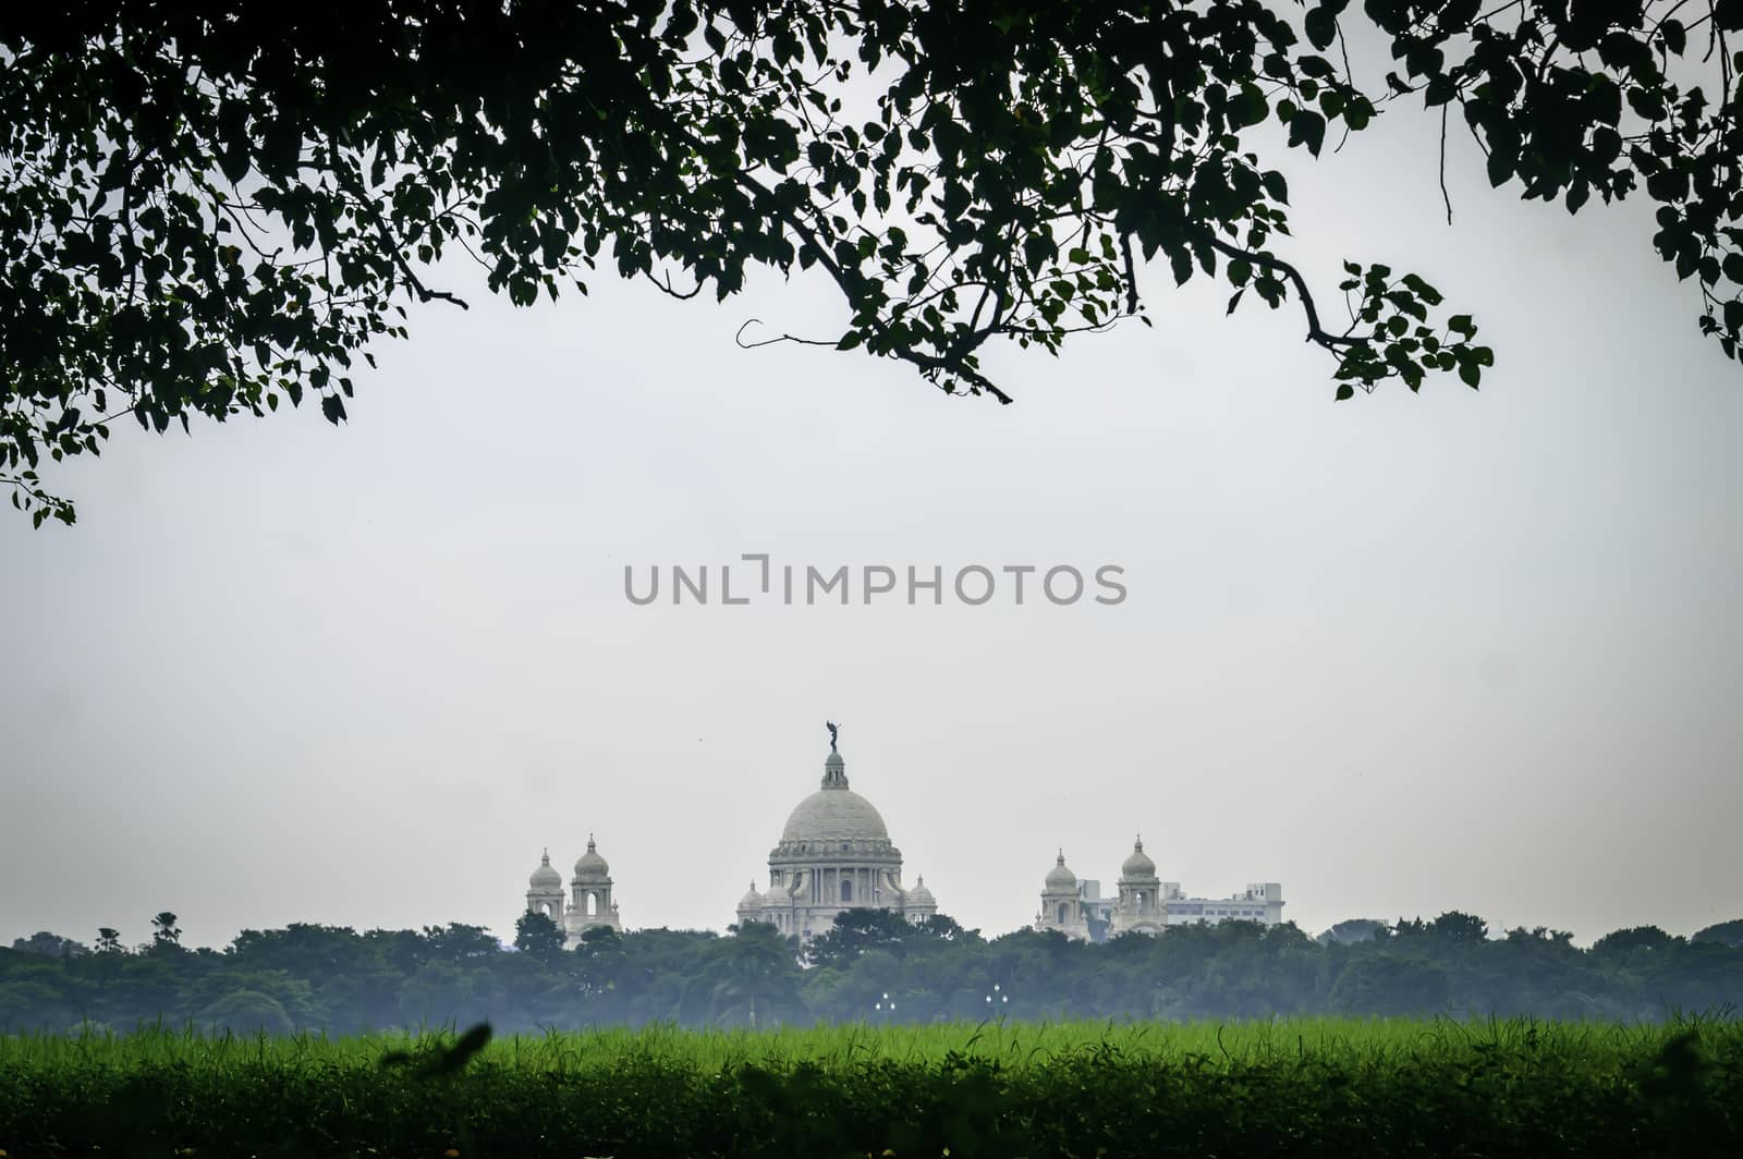
<svg viewBox="0 0 1743 1159">
<path fill-rule="evenodd" d="M 877 807 L 847 788 L 847 763 L 831 744 L 823 784 L 798 802 L 769 851 L 769 889 L 751 880 L 737 920 L 810 939 L 849 908 L 894 910 L 922 922 L 938 913 L 938 901 L 924 877 L 912 889 L 901 884 L 901 851 Z"/>
</svg>

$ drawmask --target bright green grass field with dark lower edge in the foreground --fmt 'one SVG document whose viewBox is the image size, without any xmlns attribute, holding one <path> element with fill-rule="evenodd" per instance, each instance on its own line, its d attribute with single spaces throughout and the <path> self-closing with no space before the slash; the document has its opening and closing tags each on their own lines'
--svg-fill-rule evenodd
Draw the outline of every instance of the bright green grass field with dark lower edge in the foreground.
<svg viewBox="0 0 1743 1159">
<path fill-rule="evenodd" d="M 0 1037 L 17 1156 L 1743 1156 L 1743 1021 Z M 383 1060 L 399 1060 L 394 1061 Z"/>
</svg>

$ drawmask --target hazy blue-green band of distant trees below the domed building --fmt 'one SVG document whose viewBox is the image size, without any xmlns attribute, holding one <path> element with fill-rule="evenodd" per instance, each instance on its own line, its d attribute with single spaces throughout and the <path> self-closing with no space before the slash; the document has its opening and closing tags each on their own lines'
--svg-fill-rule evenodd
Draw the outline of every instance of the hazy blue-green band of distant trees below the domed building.
<svg viewBox="0 0 1743 1159">
<path fill-rule="evenodd" d="M 0 1030 L 139 1023 L 213 1030 L 328 1030 L 492 1021 L 580 1028 L 669 1021 L 1002 1018 L 1271 1018 L 1279 1014 L 1537 1014 L 1656 1020 L 1743 1004 L 1743 920 L 1680 938 L 1623 929 L 1591 948 L 1550 929 L 1450 912 L 1349 920 L 1311 938 L 1293 924 L 1185 925 L 1105 945 L 1056 932 L 983 938 L 948 917 L 912 925 L 851 910 L 800 946 L 774 927 L 594 929 L 566 950 L 551 918 L 523 915 L 514 948 L 485 927 L 422 931 L 295 924 L 188 948 L 174 913 L 152 941 L 94 946 L 40 932 L 0 948 Z"/>
</svg>

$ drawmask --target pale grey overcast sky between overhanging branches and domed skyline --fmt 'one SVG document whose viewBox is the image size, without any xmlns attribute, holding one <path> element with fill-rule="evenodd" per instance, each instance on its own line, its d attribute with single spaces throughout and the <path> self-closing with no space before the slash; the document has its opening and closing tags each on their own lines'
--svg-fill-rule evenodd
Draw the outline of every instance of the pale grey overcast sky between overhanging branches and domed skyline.
<svg viewBox="0 0 1743 1159">
<path fill-rule="evenodd" d="M 598 835 L 631 927 L 732 920 L 824 718 L 906 878 L 987 932 L 1056 847 L 1110 889 L 1278 880 L 1307 931 L 1476 912 L 1579 941 L 1743 917 L 1743 376 L 1649 207 L 1494 193 L 1391 112 L 1290 157 L 1299 258 L 1414 268 L 1480 394 L 1332 403 L 1293 310 L 1145 272 L 1156 329 L 997 357 L 1014 406 L 725 305 L 424 308 L 352 422 L 122 430 L 0 519 L 0 943 L 181 915 L 512 934 Z M 1117 607 L 633 607 L 624 566 L 1124 568 Z M 746 565 L 739 565 L 744 568 Z M 748 579 L 746 572 L 746 579 Z M 739 584 L 734 575 L 734 586 Z M 718 579 L 716 579 L 718 582 Z M 718 593 L 711 593 L 716 594 Z M 856 591 L 858 600 L 858 591 Z"/>
</svg>

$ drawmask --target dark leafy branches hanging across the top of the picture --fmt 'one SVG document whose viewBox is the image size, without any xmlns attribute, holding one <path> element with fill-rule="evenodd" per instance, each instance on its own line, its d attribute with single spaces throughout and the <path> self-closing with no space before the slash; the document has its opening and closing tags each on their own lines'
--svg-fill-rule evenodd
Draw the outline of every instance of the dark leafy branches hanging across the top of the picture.
<svg viewBox="0 0 1743 1159">
<path fill-rule="evenodd" d="M 1396 61 L 1358 87 L 1344 24 Z M 354 0 L 0 17 L 0 483 L 110 425 L 319 399 L 451 300 L 464 251 L 516 303 L 603 265 L 664 291 L 814 270 L 838 335 L 1009 401 L 994 340 L 1143 317 L 1140 256 L 1300 312 L 1337 396 L 1492 352 L 1417 274 L 1347 261 L 1339 315 L 1286 256 L 1265 152 L 1389 103 L 1457 115 L 1489 178 L 1577 211 L 1640 190 L 1652 244 L 1743 336 L 1743 0 Z M 1278 131 L 1281 127 L 1281 132 Z M 1445 129 L 1445 120 L 1443 120 Z"/>
</svg>

